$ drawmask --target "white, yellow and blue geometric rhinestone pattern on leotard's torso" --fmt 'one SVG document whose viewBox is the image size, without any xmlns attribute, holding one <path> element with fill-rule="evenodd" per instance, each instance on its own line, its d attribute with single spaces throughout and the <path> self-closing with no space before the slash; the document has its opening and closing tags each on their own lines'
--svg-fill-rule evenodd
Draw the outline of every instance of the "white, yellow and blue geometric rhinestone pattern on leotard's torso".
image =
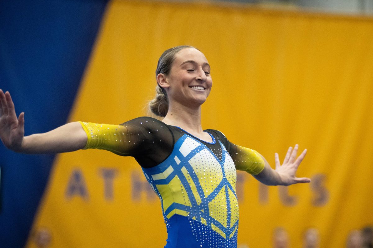
<svg viewBox="0 0 373 248">
<path fill-rule="evenodd" d="M 167 231 L 174 228 L 169 221 L 174 215 L 190 219 L 189 228 L 198 247 L 237 246 L 236 168 L 218 142 L 221 159 L 205 144 L 184 134 L 165 161 L 142 169 L 161 199 Z"/>
</svg>

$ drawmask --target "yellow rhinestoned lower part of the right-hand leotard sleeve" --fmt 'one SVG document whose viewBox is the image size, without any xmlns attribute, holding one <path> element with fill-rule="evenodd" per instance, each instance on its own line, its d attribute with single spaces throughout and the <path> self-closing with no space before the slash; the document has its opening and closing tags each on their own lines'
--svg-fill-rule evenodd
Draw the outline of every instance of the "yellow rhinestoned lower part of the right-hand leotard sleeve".
<svg viewBox="0 0 373 248">
<path fill-rule="evenodd" d="M 236 170 L 246 171 L 253 175 L 261 173 L 264 169 L 264 160 L 259 152 L 243 146 L 237 146 L 234 163 Z"/>
</svg>

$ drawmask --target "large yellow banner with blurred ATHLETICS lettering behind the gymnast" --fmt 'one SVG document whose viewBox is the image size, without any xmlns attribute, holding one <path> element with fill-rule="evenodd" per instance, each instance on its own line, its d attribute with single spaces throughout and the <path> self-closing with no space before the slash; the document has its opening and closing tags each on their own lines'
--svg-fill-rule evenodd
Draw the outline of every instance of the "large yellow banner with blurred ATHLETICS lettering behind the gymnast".
<svg viewBox="0 0 373 248">
<path fill-rule="evenodd" d="M 119 124 L 146 115 L 162 52 L 192 45 L 209 60 L 213 89 L 203 128 L 222 131 L 274 165 L 289 146 L 308 154 L 310 184 L 267 187 L 238 173 L 239 247 L 291 247 L 306 228 L 320 247 L 344 247 L 373 224 L 373 19 L 197 3 L 112 1 L 70 121 Z M 61 154 L 26 247 L 163 247 L 156 194 L 133 158 Z"/>
</svg>

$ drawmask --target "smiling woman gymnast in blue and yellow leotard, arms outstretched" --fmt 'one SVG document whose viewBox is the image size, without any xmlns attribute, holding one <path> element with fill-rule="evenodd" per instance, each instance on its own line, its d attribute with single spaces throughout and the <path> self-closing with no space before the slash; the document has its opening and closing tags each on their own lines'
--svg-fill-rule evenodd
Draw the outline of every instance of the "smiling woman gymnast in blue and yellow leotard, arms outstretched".
<svg viewBox="0 0 373 248">
<path fill-rule="evenodd" d="M 139 117 L 120 125 L 73 122 L 24 137 L 24 113 L 17 118 L 9 92 L 0 90 L 0 138 L 13 151 L 57 153 L 106 149 L 132 156 L 160 197 L 167 248 L 236 247 L 236 170 L 267 185 L 308 183 L 295 177 L 306 150 L 291 147 L 273 170 L 258 152 L 228 141 L 222 132 L 201 127 L 201 105 L 212 79 L 206 57 L 192 46 L 166 50 L 156 70 L 157 96 L 150 109 L 162 121 Z"/>
</svg>

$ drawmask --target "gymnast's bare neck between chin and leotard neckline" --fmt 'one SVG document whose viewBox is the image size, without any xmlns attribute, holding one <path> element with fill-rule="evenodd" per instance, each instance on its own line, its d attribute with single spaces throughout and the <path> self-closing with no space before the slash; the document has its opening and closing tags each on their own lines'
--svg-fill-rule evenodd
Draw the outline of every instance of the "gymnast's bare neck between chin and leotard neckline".
<svg viewBox="0 0 373 248">
<path fill-rule="evenodd" d="M 178 126 L 190 133 L 203 133 L 201 106 L 190 107 L 172 102 L 162 122 L 167 125 Z"/>
</svg>

